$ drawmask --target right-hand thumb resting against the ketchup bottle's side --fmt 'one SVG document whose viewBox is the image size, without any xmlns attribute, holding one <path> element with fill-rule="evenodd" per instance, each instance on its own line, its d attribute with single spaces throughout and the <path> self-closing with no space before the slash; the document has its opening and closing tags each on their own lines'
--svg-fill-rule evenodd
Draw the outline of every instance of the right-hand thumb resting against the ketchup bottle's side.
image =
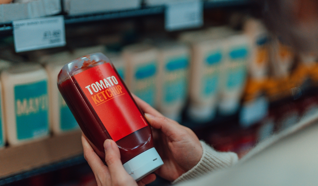
<svg viewBox="0 0 318 186">
<path fill-rule="evenodd" d="M 174 140 L 175 135 L 178 135 L 184 129 L 178 122 L 165 116 L 154 116 L 145 113 L 145 117 L 153 128 L 161 130 L 171 140 Z"/>
</svg>

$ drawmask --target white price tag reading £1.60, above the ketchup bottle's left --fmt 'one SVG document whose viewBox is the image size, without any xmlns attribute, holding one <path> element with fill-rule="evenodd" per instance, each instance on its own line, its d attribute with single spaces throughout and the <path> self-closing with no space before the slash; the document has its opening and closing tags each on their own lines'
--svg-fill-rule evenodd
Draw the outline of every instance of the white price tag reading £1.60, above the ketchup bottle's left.
<svg viewBox="0 0 318 186">
<path fill-rule="evenodd" d="M 16 52 L 65 46 L 63 16 L 13 21 Z"/>
</svg>

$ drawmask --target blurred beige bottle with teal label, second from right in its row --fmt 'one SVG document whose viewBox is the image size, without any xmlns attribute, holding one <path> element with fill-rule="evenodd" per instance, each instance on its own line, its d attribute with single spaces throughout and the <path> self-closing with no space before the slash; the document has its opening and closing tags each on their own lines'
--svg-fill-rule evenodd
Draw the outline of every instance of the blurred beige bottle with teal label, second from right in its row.
<svg viewBox="0 0 318 186">
<path fill-rule="evenodd" d="M 193 120 L 206 122 L 215 116 L 224 66 L 223 45 L 221 39 L 192 44 L 189 116 Z"/>
</svg>

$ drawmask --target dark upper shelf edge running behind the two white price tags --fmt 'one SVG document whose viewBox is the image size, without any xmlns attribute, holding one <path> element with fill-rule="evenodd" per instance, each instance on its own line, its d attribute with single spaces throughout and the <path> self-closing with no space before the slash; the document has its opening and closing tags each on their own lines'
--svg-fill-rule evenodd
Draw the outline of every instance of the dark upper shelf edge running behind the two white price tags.
<svg viewBox="0 0 318 186">
<path fill-rule="evenodd" d="M 246 5 L 250 3 L 250 0 L 211 0 L 204 2 L 204 9 L 219 8 L 219 7 L 229 7 L 229 6 L 239 6 Z M 105 12 L 99 14 L 88 14 L 81 16 L 68 16 L 65 15 L 65 24 L 73 23 L 87 23 L 92 21 L 102 21 L 118 18 L 128 18 L 128 17 L 139 17 L 139 16 L 149 16 L 164 13 L 164 6 L 157 7 L 143 7 L 141 9 L 125 10 L 117 12 Z M 12 34 L 12 23 L 0 23 L 0 36 L 4 34 Z"/>
</svg>

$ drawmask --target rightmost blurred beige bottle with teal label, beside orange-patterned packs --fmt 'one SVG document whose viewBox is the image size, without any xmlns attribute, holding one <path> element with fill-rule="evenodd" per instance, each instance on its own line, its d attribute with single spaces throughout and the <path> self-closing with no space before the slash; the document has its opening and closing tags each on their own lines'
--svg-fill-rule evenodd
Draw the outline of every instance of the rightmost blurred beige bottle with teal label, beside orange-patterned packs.
<svg viewBox="0 0 318 186">
<path fill-rule="evenodd" d="M 219 111 L 234 114 L 240 105 L 247 78 L 250 42 L 245 34 L 231 36 L 225 42 L 225 66 L 222 68 Z"/>
</svg>

